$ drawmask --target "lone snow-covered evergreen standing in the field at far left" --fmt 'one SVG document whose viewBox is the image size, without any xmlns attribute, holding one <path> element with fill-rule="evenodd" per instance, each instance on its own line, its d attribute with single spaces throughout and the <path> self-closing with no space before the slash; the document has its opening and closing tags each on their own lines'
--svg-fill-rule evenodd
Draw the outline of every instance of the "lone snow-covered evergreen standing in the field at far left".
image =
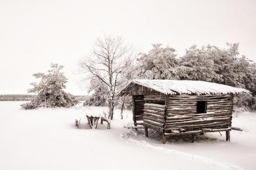
<svg viewBox="0 0 256 170">
<path fill-rule="evenodd" d="M 63 91 L 67 78 L 61 72 L 64 66 L 51 64 L 48 73 L 36 73 L 33 76 L 40 79 L 39 83 L 31 83 L 34 86 L 28 92 L 37 94 L 30 103 L 22 104 L 23 109 L 35 109 L 39 107 L 72 107 L 79 103 L 75 96 Z"/>
</svg>

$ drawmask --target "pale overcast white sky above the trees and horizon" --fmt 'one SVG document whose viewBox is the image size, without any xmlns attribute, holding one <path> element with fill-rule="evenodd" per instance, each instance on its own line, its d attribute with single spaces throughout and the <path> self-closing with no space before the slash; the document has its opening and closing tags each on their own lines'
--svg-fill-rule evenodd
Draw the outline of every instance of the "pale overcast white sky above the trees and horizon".
<svg viewBox="0 0 256 170">
<path fill-rule="evenodd" d="M 192 44 L 240 42 L 256 61 L 256 1 L 0 0 L 0 94 L 26 94 L 51 62 L 65 66 L 67 91 L 86 94 L 73 72 L 104 33 L 141 52 L 170 45 L 179 56 Z"/>
</svg>

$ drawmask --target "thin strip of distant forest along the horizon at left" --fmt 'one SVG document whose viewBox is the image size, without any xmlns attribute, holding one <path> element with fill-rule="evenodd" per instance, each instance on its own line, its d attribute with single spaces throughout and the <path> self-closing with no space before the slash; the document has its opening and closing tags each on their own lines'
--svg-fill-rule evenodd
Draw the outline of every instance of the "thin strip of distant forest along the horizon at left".
<svg viewBox="0 0 256 170">
<path fill-rule="evenodd" d="M 36 95 L 0 95 L 0 101 L 30 101 Z M 88 96 L 75 96 L 76 99 L 84 101 Z"/>
</svg>

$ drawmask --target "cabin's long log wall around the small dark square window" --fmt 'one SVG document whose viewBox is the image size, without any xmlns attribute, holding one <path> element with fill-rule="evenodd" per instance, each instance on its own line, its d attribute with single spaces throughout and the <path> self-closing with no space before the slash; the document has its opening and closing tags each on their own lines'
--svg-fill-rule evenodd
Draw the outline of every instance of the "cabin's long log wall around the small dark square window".
<svg viewBox="0 0 256 170">
<path fill-rule="evenodd" d="M 206 113 L 197 113 L 197 102 L 205 101 Z M 166 102 L 164 129 L 196 130 L 200 128 L 228 128 L 233 110 L 232 95 L 174 95 Z"/>
</svg>

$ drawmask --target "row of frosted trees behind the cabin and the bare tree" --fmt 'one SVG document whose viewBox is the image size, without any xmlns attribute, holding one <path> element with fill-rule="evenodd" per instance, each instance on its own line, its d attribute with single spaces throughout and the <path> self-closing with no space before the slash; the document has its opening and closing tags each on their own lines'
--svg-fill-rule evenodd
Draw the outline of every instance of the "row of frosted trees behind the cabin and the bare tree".
<svg viewBox="0 0 256 170">
<path fill-rule="evenodd" d="M 221 49 L 212 45 L 193 45 L 183 56 L 177 56 L 174 48 L 154 44 L 148 53 L 140 53 L 122 74 L 123 84 L 119 89 L 131 79 L 203 80 L 251 91 L 251 94 L 235 96 L 234 104 L 253 110 L 256 108 L 256 63 L 240 55 L 238 46 L 238 43 L 227 43 L 227 48 Z M 108 87 L 100 80 L 93 78 L 90 90 L 94 94 L 85 105 L 108 103 L 105 93 Z M 122 105 L 122 101 L 124 99 L 119 99 L 118 104 Z"/>
</svg>

